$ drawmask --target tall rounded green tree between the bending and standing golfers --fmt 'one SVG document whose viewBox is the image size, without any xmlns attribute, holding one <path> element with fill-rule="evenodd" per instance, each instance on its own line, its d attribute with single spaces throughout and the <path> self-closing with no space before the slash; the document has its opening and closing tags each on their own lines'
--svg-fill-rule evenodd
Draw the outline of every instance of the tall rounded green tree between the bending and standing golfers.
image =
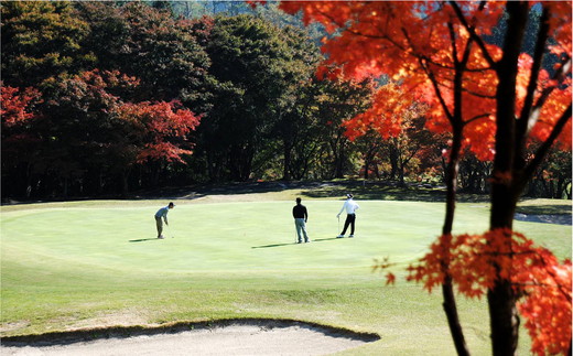
<svg viewBox="0 0 573 356">
<path fill-rule="evenodd" d="M 210 180 L 246 181 L 274 155 L 269 144 L 312 76 L 317 50 L 301 31 L 239 15 L 215 19 L 206 51 L 214 105 L 199 147 Z"/>
</svg>

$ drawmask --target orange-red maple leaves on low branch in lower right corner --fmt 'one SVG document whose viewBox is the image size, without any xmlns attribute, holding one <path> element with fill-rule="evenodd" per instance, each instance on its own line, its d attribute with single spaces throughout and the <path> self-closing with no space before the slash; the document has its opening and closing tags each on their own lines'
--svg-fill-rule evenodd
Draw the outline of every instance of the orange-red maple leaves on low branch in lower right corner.
<svg viewBox="0 0 573 356">
<path fill-rule="evenodd" d="M 432 291 L 443 283 L 446 256 L 448 273 L 460 293 L 480 298 L 497 279 L 508 279 L 521 296 L 517 308 L 527 320 L 532 350 L 538 355 L 566 353 L 571 342 L 571 260 L 560 262 L 548 249 L 509 229 L 441 236 L 418 265 L 408 268 L 407 280 Z"/>
</svg>

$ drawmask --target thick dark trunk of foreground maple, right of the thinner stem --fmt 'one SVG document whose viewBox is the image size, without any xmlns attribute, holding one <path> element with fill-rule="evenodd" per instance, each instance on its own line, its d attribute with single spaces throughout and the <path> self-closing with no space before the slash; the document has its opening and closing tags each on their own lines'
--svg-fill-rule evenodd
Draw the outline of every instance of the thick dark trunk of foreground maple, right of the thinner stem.
<svg viewBox="0 0 573 356">
<path fill-rule="evenodd" d="M 499 79 L 496 90 L 496 157 L 491 180 L 491 215 L 489 228 L 512 227 L 517 194 L 512 190 L 519 181 L 516 163 L 516 83 L 518 58 L 528 21 L 527 2 L 507 2 L 508 23 L 504 42 L 504 56 L 497 64 Z M 511 236 L 506 237 L 511 244 Z M 519 336 L 519 316 L 516 310 L 516 295 L 507 279 L 498 278 L 487 293 L 491 349 L 494 356 L 516 354 Z"/>
</svg>

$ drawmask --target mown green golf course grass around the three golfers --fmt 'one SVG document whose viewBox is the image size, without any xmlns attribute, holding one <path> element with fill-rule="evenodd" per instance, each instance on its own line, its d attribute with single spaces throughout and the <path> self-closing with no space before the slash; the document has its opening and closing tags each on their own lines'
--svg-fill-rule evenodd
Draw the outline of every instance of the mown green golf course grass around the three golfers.
<svg viewBox="0 0 573 356">
<path fill-rule="evenodd" d="M 335 239 L 343 201 L 303 195 L 313 242 L 295 245 L 299 193 L 175 201 L 164 240 L 154 239 L 153 214 L 169 199 L 4 206 L 1 335 L 277 317 L 381 336 L 345 355 L 454 355 L 440 293 L 403 279 L 385 287 L 371 272 L 374 259 L 388 256 L 403 277 L 440 233 L 444 204 L 358 196 L 357 237 Z M 487 204 L 461 203 L 454 229 L 479 233 L 487 222 Z M 571 256 L 571 226 L 515 227 L 560 258 Z M 485 301 L 460 299 L 460 306 L 471 349 L 489 354 Z M 523 331 L 521 354 L 529 343 Z"/>
</svg>

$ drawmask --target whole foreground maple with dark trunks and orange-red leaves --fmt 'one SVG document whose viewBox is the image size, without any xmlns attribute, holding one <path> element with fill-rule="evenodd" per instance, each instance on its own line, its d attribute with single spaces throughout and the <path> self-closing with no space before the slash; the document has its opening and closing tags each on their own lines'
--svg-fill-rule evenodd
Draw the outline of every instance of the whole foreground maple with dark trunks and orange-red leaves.
<svg viewBox="0 0 573 356">
<path fill-rule="evenodd" d="M 354 78 L 389 75 L 404 93 L 428 103 L 431 130 L 452 133 L 442 236 L 415 267 L 413 279 L 442 285 L 458 354 L 468 350 L 452 283 L 469 296 L 487 293 L 494 355 L 516 352 L 518 300 L 533 352 L 570 352 L 571 262 L 560 263 L 511 228 L 517 199 L 549 148 L 555 142 L 571 148 L 571 2 L 292 1 L 281 8 L 302 11 L 305 22 L 336 31 L 323 40 L 328 54 L 324 68 L 338 65 L 337 75 Z M 526 53 L 522 42 L 530 18 L 539 28 L 532 34 L 534 47 Z M 494 29 L 499 24 L 506 29 L 496 42 Z M 543 58 L 551 55 L 555 65 L 545 68 Z M 378 125 L 389 134 L 400 131 L 400 120 L 382 120 L 391 116 L 379 115 L 378 108 L 392 107 L 380 100 L 393 99 L 378 98 L 355 120 Z M 399 107 L 392 109 L 399 117 Z M 526 148 L 533 139 L 543 143 L 528 157 Z M 473 238 L 452 236 L 457 160 L 464 147 L 494 160 L 490 230 Z M 517 252 L 522 245 L 527 251 Z M 472 256 L 467 263 L 460 261 L 460 251 Z M 484 253 L 484 265 L 469 262 Z M 529 259 L 522 261 L 522 256 Z M 529 272 L 532 266 L 536 272 Z M 460 284 L 463 277 L 475 288 Z M 541 322 L 542 310 L 563 312 Z"/>
</svg>

